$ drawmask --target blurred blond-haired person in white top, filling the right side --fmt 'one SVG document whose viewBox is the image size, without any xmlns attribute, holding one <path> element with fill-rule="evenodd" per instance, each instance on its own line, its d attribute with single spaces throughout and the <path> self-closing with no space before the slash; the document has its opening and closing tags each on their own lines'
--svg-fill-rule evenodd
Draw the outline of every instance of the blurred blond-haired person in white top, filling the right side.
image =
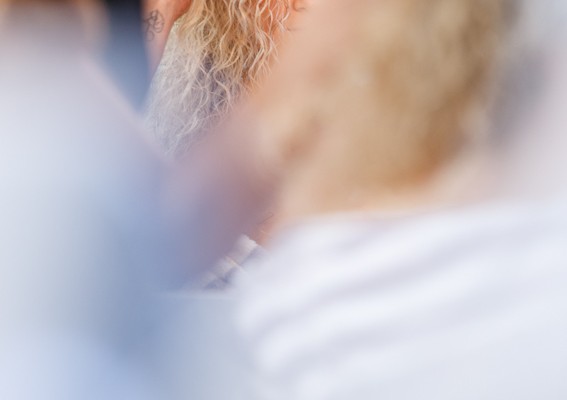
<svg viewBox="0 0 567 400">
<path fill-rule="evenodd" d="M 566 18 L 552 0 L 313 11 L 254 108 L 287 187 L 242 286 L 262 398 L 567 396 Z"/>
</svg>

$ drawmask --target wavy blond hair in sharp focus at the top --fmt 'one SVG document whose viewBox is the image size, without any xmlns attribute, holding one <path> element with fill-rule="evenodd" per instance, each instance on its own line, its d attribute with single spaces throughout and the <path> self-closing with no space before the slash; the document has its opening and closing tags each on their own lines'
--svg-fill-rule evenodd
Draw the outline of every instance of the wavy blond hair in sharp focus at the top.
<svg viewBox="0 0 567 400">
<path fill-rule="evenodd" d="M 179 158 L 201 141 L 266 73 L 288 2 L 195 0 L 176 23 L 145 118 L 168 157 Z"/>
</svg>

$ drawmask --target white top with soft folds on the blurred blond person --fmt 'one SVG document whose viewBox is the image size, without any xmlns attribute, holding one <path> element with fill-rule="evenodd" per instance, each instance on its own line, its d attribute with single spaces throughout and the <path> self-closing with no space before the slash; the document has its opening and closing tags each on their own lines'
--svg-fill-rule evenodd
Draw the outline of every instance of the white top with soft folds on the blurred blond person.
<svg viewBox="0 0 567 400">
<path fill-rule="evenodd" d="M 313 220 L 240 282 L 259 398 L 567 398 L 567 206 Z"/>
</svg>

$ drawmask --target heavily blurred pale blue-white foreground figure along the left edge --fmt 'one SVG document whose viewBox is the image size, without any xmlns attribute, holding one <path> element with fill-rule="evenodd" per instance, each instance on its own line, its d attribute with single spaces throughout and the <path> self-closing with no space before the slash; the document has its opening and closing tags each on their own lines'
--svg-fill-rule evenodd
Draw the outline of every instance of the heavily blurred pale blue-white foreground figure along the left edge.
<svg viewBox="0 0 567 400">
<path fill-rule="evenodd" d="M 72 16 L 1 21 L 0 398 L 164 398 L 148 281 L 166 262 L 163 166 Z"/>
</svg>

